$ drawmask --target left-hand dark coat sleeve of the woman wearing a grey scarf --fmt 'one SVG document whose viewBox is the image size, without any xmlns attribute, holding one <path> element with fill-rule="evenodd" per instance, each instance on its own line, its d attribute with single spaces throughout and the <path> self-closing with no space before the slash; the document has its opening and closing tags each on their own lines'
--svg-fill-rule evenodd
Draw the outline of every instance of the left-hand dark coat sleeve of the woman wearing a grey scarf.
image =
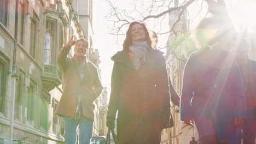
<svg viewBox="0 0 256 144">
<path fill-rule="evenodd" d="M 111 93 L 108 104 L 107 119 L 115 119 L 118 110 L 118 101 L 120 97 L 122 79 L 120 76 L 120 70 L 118 68 L 118 62 L 114 62 L 112 77 L 111 77 Z"/>
</svg>

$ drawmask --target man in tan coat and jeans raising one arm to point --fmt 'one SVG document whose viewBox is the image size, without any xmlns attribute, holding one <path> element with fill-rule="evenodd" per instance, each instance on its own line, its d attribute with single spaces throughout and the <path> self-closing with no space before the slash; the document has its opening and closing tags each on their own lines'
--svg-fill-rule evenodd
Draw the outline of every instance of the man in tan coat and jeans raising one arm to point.
<svg viewBox="0 0 256 144">
<path fill-rule="evenodd" d="M 74 56 L 67 57 L 71 46 Z M 65 118 L 65 143 L 74 144 L 79 125 L 79 143 L 89 144 L 94 122 L 94 101 L 102 92 L 97 68 L 86 59 L 88 41 L 81 38 L 62 47 L 57 63 L 63 71 L 63 93 L 55 113 Z"/>
</svg>

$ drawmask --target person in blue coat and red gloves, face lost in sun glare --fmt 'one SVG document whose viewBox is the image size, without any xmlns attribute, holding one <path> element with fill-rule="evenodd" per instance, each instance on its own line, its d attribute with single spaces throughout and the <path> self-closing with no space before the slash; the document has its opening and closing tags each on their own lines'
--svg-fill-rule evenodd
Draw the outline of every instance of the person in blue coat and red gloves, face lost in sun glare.
<svg viewBox="0 0 256 144">
<path fill-rule="evenodd" d="M 196 32 L 201 49 L 191 53 L 184 68 L 181 121 L 195 123 L 202 144 L 237 144 L 238 128 L 247 118 L 240 69 L 220 43 L 227 31 L 217 19 L 203 19 Z"/>
</svg>

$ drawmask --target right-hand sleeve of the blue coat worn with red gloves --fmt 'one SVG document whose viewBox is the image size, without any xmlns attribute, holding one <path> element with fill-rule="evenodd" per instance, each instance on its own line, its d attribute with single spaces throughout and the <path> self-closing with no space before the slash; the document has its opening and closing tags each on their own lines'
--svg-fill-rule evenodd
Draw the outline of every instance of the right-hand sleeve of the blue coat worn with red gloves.
<svg viewBox="0 0 256 144">
<path fill-rule="evenodd" d="M 247 118 L 245 87 L 237 62 L 234 60 L 229 73 L 230 89 L 235 101 L 235 118 Z"/>
</svg>

